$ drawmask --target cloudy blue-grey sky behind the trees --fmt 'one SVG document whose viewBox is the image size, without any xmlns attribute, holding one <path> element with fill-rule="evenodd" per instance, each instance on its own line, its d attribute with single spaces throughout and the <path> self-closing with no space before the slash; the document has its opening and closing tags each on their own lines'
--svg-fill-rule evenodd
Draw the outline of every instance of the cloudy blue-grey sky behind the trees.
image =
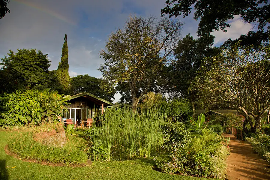
<svg viewBox="0 0 270 180">
<path fill-rule="evenodd" d="M 69 74 L 88 74 L 101 78 L 97 68 L 104 62 L 99 56 L 111 32 L 125 25 L 130 15 L 160 17 L 166 0 L 10 0 L 10 13 L 0 19 L 0 57 L 9 49 L 38 49 L 48 54 L 50 70 L 55 70 L 61 61 L 64 35 L 67 34 L 69 51 Z M 193 14 L 186 18 L 182 36 L 190 33 L 197 38 L 198 21 Z M 228 38 L 236 39 L 241 34 L 254 30 L 254 24 L 235 16 L 230 21 L 227 33 L 213 32 L 214 46 L 220 46 Z M 115 95 L 114 102 L 120 95 Z"/>
</svg>

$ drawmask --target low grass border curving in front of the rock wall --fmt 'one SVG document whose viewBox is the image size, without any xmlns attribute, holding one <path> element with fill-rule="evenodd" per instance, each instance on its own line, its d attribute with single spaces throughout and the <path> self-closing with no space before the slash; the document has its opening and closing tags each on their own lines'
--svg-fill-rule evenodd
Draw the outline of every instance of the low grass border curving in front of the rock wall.
<svg viewBox="0 0 270 180">
<path fill-rule="evenodd" d="M 46 161 L 53 164 L 83 165 L 88 156 L 75 146 L 49 147 L 33 140 L 32 132 L 23 132 L 7 143 L 9 151 L 23 159 Z"/>
</svg>

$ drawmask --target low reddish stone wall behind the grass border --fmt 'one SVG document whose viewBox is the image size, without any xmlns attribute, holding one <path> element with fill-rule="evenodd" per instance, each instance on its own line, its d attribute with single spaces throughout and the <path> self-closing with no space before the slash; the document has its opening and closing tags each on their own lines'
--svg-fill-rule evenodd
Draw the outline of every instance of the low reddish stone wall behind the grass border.
<svg viewBox="0 0 270 180">
<path fill-rule="evenodd" d="M 64 128 L 59 128 L 57 131 L 52 130 L 49 132 L 44 132 L 34 135 L 33 139 L 42 144 L 52 147 L 63 147 L 67 142 L 66 133 Z"/>
</svg>

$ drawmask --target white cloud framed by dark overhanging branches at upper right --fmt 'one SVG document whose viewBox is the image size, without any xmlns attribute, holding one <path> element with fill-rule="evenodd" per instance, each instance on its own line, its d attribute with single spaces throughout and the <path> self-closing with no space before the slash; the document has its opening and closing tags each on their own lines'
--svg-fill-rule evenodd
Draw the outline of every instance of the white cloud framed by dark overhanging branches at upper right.
<svg viewBox="0 0 270 180">
<path fill-rule="evenodd" d="M 244 22 L 240 16 L 234 16 L 234 19 L 229 22 L 232 26 L 230 28 L 226 28 L 227 32 L 223 31 L 214 31 L 212 35 L 214 35 L 215 41 L 214 45 L 222 44 L 227 39 L 231 38 L 235 40 L 239 38 L 240 35 L 245 35 L 247 32 L 253 29 L 253 25 L 247 22 Z"/>
</svg>

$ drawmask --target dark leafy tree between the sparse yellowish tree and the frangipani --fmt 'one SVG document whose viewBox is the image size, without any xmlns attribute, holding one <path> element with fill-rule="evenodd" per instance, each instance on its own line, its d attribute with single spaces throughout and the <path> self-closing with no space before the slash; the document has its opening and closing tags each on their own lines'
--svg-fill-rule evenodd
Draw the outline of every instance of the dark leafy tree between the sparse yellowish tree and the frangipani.
<svg viewBox="0 0 270 180">
<path fill-rule="evenodd" d="M 167 84 L 170 95 L 174 98 L 188 98 L 193 107 L 193 118 L 195 103 L 198 101 L 198 90 L 190 88 L 192 81 L 198 75 L 203 58 L 217 55 L 219 49 L 212 47 L 214 36 L 205 36 L 193 39 L 190 34 L 186 35 L 177 44 L 175 50 L 176 60 L 167 66 Z"/>
</svg>

